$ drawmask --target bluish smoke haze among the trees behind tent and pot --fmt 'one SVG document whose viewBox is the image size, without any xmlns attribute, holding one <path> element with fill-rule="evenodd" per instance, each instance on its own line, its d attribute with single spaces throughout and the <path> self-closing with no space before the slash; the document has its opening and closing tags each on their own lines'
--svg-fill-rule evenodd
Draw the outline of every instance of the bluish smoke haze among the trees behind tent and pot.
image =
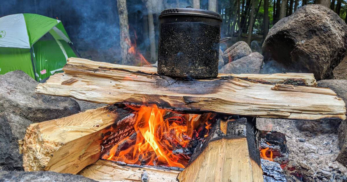
<svg viewBox="0 0 347 182">
<path fill-rule="evenodd" d="M 178 4 L 177 4 L 178 2 Z M 192 6 L 189 0 L 158 0 L 153 9 L 155 39 L 158 42 L 158 16 L 164 8 Z M 95 61 L 120 63 L 120 38 L 117 1 L 111 0 L 5 0 L 0 6 L 0 17 L 35 13 L 62 21 L 71 41 L 81 57 Z M 203 6 L 204 3 L 202 3 Z M 205 3 L 207 5 L 207 3 Z M 150 57 L 149 38 L 144 29 L 147 16 L 145 2 L 127 1 L 129 34 L 145 58 Z M 137 38 L 137 39 L 136 39 Z M 74 49 L 73 48 L 73 49 Z M 75 51 L 76 52 L 76 51 Z M 77 55 L 78 56 L 78 55 Z"/>
</svg>

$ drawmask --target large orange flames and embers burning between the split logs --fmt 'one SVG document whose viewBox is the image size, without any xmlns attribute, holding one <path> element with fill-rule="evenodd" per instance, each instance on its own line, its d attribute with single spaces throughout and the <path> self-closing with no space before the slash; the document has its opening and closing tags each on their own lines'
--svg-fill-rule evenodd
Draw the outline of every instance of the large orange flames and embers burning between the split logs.
<svg viewBox="0 0 347 182">
<path fill-rule="evenodd" d="M 136 138 L 133 136 L 120 141 L 109 154 L 102 157 L 103 159 L 127 164 L 184 168 L 191 155 L 187 149 L 189 141 L 192 138 L 198 139 L 198 133 L 203 130 L 209 131 L 212 125 L 209 123 L 211 120 L 196 122 L 197 115 L 190 120 L 188 114 L 164 119 L 163 116 L 168 111 L 155 105 L 130 108 L 137 110 L 134 125 Z"/>
</svg>

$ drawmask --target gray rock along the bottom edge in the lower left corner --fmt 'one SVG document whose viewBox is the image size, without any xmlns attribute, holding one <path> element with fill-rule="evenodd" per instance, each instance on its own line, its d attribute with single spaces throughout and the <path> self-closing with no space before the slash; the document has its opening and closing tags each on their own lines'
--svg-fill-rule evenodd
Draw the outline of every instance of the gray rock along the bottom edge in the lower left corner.
<svg viewBox="0 0 347 182">
<path fill-rule="evenodd" d="M 52 171 L 33 171 L 33 172 L 21 172 L 21 171 L 1 171 L 0 181 L 4 182 L 96 182 L 92 179 L 81 175 L 57 173 Z"/>
</svg>

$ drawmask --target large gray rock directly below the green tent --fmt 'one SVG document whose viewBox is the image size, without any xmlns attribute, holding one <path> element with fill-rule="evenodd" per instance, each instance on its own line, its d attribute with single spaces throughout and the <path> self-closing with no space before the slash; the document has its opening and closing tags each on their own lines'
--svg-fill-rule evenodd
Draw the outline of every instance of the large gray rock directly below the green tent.
<svg viewBox="0 0 347 182">
<path fill-rule="evenodd" d="M 0 113 L 12 113 L 32 122 L 42 122 L 80 111 L 74 99 L 34 93 L 37 84 L 19 70 L 0 75 Z"/>
</svg>

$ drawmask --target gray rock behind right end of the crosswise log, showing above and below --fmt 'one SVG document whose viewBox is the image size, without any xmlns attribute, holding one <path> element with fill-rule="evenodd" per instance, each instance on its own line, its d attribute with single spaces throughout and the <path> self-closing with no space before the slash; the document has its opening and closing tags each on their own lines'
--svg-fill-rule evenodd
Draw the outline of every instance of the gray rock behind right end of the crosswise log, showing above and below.
<svg viewBox="0 0 347 182">
<path fill-rule="evenodd" d="M 319 87 L 333 90 L 339 98 L 347 103 L 347 80 L 320 80 L 317 83 Z M 296 122 L 296 127 L 301 131 L 322 134 L 337 132 L 340 123 L 339 119 L 320 119 L 315 121 L 298 121 Z"/>
</svg>

